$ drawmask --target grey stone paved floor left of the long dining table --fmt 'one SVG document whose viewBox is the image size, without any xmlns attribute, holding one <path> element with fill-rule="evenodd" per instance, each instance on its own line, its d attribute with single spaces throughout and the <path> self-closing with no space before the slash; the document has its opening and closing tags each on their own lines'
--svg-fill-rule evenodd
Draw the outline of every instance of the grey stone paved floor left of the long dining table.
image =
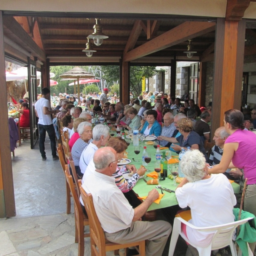
<svg viewBox="0 0 256 256">
<path fill-rule="evenodd" d="M 59 161 L 51 159 L 49 139 L 45 146 L 46 161 L 41 160 L 38 144 L 31 150 L 29 141 L 23 141 L 15 149 L 12 168 L 16 216 L 0 219 L 0 256 L 78 255 L 73 202 L 72 213 L 67 215 L 64 174 Z M 160 218 L 165 219 L 165 214 Z M 169 241 L 163 256 L 168 250 Z M 184 256 L 185 252 L 186 244 L 179 241 L 175 256 Z M 90 238 L 85 238 L 84 256 L 90 256 Z"/>
</svg>

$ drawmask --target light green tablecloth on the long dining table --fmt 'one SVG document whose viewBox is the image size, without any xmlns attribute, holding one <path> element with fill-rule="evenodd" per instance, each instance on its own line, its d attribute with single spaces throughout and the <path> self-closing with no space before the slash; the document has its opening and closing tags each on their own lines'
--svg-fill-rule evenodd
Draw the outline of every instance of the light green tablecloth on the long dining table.
<svg viewBox="0 0 256 256">
<path fill-rule="evenodd" d="M 141 142 L 140 142 L 140 145 L 141 145 Z M 143 143 L 143 145 L 145 145 Z M 145 179 L 146 180 L 150 180 L 152 179 L 151 177 L 147 177 L 146 175 L 150 172 L 153 172 L 154 171 L 154 162 L 155 162 L 155 152 L 156 152 L 156 149 L 153 147 L 153 145 L 145 145 L 147 147 L 147 151 L 148 153 L 151 154 L 151 162 L 148 164 L 148 166 L 146 166 L 146 168 L 148 169 L 148 171 L 145 173 Z M 163 149 L 161 150 L 164 151 L 166 149 Z M 143 147 L 140 147 L 140 154 L 136 155 L 134 153 L 134 146 L 133 144 L 131 143 L 127 149 L 128 151 L 128 159 L 131 160 L 131 164 L 134 164 L 136 166 L 136 168 L 140 168 L 140 166 L 142 165 L 142 153 L 143 153 Z M 172 152 L 172 156 L 177 156 L 176 153 Z M 134 160 L 132 159 L 135 159 L 135 160 L 138 160 L 139 162 L 134 162 Z M 171 167 L 171 165 L 169 165 Z M 168 175 L 170 174 L 169 170 L 168 170 Z M 160 180 L 159 184 L 162 186 L 162 187 L 165 187 L 165 188 L 168 188 L 168 189 L 172 189 L 172 190 L 175 190 L 176 189 L 176 186 L 174 185 L 173 183 L 173 180 L 170 180 L 169 178 L 166 178 L 166 180 Z M 232 184 L 232 187 L 234 189 L 234 192 L 235 193 L 239 193 L 240 191 L 240 186 L 233 182 Z M 140 197 L 142 196 L 146 196 L 148 195 L 148 192 L 151 191 L 152 189 L 155 188 L 156 185 L 147 185 L 143 179 L 140 179 L 138 180 L 137 184 L 134 186 L 133 190 L 135 193 L 137 193 Z M 157 189 L 159 191 L 159 193 L 161 193 L 160 189 Z M 160 201 L 160 204 L 151 204 L 151 206 L 148 208 L 148 211 L 150 210 L 154 210 L 154 209 L 161 209 L 161 208 L 165 208 L 165 207 L 170 207 L 170 206 L 173 206 L 173 205 L 176 205 L 178 204 L 177 202 L 177 199 L 175 197 L 175 193 L 169 193 L 169 192 L 165 192 L 164 191 L 164 196 L 163 198 L 161 199 Z"/>
</svg>

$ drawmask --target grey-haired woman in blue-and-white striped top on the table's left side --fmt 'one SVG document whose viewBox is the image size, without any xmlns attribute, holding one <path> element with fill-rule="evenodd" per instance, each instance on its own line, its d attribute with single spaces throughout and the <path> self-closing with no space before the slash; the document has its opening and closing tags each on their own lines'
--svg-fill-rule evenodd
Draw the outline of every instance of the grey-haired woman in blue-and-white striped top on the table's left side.
<svg viewBox="0 0 256 256">
<path fill-rule="evenodd" d="M 76 168 L 76 173 L 78 177 L 81 178 L 83 175 L 79 168 L 80 156 L 84 148 L 88 145 L 89 140 L 93 136 L 92 124 L 90 122 L 81 122 L 77 127 L 77 132 L 80 138 L 77 139 L 76 142 L 74 143 L 71 149 L 71 154 L 72 154 L 72 158 Z"/>
</svg>

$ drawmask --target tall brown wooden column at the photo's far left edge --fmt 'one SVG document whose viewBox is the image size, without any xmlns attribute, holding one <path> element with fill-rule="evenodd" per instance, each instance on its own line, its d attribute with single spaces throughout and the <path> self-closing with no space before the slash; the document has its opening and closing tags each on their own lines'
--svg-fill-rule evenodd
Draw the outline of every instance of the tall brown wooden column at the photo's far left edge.
<svg viewBox="0 0 256 256">
<path fill-rule="evenodd" d="M 0 11 L 0 218 L 16 215 L 10 151 L 5 59 L 3 48 L 3 15 Z"/>
</svg>

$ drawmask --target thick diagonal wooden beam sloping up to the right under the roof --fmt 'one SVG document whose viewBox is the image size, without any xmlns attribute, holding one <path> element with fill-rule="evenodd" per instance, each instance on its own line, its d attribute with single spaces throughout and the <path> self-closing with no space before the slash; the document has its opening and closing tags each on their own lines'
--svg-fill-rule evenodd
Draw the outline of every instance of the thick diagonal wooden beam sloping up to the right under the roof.
<svg viewBox="0 0 256 256">
<path fill-rule="evenodd" d="M 186 21 L 157 38 L 125 53 L 123 60 L 133 61 L 213 30 L 215 30 L 215 23 L 213 22 Z"/>
</svg>

